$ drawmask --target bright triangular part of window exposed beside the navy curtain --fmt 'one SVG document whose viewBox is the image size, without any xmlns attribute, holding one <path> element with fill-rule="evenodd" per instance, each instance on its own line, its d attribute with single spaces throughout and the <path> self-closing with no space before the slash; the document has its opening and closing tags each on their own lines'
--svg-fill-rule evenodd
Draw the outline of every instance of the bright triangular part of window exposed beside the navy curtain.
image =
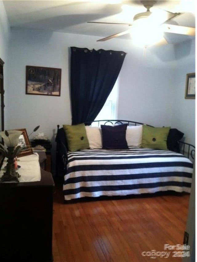
<svg viewBox="0 0 197 262">
<path fill-rule="evenodd" d="M 117 118 L 118 111 L 118 79 L 109 94 L 103 108 L 94 120 L 112 120 Z"/>
</svg>

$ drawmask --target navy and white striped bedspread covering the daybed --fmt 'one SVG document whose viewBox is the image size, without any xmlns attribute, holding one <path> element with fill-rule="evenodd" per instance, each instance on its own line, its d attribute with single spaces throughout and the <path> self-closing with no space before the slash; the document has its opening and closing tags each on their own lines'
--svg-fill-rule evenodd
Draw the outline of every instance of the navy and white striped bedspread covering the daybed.
<svg viewBox="0 0 197 262">
<path fill-rule="evenodd" d="M 64 198 L 190 192 L 192 171 L 191 161 L 172 151 L 130 147 L 69 152 Z"/>
</svg>

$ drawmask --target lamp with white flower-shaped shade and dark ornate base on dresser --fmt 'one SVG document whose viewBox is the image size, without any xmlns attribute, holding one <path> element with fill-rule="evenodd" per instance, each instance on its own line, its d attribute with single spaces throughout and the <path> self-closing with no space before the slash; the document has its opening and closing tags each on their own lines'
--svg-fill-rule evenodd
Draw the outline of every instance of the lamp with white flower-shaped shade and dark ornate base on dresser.
<svg viewBox="0 0 197 262">
<path fill-rule="evenodd" d="M 19 142 L 19 136 L 22 131 L 19 130 L 9 130 L 0 132 L 6 146 L 0 143 L 0 152 L 7 158 L 6 172 L 3 173 L 1 181 L 15 181 L 19 182 L 18 177 L 20 175 L 14 168 L 15 157 L 20 153 L 22 147 L 17 146 Z"/>
</svg>

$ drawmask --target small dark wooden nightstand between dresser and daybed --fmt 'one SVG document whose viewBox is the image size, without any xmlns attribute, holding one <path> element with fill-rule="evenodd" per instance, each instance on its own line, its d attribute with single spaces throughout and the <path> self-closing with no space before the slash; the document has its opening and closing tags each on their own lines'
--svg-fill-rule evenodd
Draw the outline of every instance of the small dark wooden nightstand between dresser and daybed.
<svg viewBox="0 0 197 262">
<path fill-rule="evenodd" d="M 51 142 L 50 140 L 31 140 L 31 146 L 42 146 L 45 148 L 46 153 L 46 164 L 45 164 L 45 171 L 51 172 Z"/>
</svg>

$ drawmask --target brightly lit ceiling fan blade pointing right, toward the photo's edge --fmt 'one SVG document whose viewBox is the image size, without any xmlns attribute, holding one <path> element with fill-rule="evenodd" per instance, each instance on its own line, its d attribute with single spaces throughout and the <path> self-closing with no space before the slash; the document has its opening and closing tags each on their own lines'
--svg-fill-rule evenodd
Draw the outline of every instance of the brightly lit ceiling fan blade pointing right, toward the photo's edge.
<svg viewBox="0 0 197 262">
<path fill-rule="evenodd" d="M 163 24 L 161 25 L 161 29 L 166 33 L 195 35 L 195 27 Z"/>
</svg>

